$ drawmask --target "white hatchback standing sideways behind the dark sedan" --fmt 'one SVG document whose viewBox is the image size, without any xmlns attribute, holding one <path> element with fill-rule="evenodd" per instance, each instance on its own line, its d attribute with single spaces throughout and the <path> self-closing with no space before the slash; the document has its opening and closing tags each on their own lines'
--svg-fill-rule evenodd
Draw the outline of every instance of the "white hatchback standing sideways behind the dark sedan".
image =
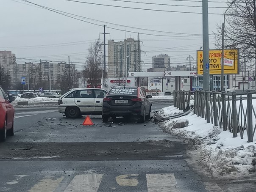
<svg viewBox="0 0 256 192">
<path fill-rule="evenodd" d="M 108 92 L 98 88 L 74 88 L 58 100 L 58 112 L 68 118 L 81 115 L 101 115 L 102 102 Z"/>
</svg>

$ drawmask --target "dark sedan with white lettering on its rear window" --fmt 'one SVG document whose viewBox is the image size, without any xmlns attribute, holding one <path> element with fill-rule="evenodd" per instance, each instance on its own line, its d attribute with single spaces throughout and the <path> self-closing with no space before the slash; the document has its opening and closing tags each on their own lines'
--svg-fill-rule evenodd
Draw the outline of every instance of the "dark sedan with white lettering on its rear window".
<svg viewBox="0 0 256 192">
<path fill-rule="evenodd" d="M 151 97 L 151 95 L 146 96 L 141 87 L 111 88 L 103 99 L 102 121 L 108 122 L 110 117 L 134 115 L 139 117 L 139 121 L 143 123 L 150 118 L 152 104 L 148 99 Z"/>
</svg>

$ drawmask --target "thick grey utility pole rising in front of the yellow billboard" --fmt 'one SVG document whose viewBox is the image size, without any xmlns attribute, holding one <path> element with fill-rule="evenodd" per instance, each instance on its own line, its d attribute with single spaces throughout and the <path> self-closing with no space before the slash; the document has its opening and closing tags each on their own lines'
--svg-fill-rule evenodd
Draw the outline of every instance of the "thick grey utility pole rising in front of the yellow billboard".
<svg viewBox="0 0 256 192">
<path fill-rule="evenodd" d="M 209 91 L 209 29 L 208 29 L 208 0 L 203 0 L 203 90 Z"/>
</svg>

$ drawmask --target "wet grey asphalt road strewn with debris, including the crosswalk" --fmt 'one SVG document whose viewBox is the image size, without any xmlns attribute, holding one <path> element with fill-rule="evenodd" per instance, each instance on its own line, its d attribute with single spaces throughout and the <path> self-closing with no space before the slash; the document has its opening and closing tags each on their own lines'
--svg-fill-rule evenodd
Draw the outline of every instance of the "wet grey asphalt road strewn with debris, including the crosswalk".
<svg viewBox="0 0 256 192">
<path fill-rule="evenodd" d="M 15 135 L 0 143 L 0 191 L 224 191 L 188 163 L 187 142 L 151 120 L 92 116 L 95 125 L 82 126 L 84 118 L 68 119 L 56 107 L 17 109 Z"/>
</svg>

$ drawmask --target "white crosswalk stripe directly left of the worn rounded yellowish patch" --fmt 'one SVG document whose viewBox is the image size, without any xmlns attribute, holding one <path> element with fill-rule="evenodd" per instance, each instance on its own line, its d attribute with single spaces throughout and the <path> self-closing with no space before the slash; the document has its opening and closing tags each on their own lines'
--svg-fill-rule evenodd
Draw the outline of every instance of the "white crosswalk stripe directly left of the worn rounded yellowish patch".
<svg viewBox="0 0 256 192">
<path fill-rule="evenodd" d="M 64 192 L 97 192 L 103 174 L 76 175 Z"/>
</svg>

